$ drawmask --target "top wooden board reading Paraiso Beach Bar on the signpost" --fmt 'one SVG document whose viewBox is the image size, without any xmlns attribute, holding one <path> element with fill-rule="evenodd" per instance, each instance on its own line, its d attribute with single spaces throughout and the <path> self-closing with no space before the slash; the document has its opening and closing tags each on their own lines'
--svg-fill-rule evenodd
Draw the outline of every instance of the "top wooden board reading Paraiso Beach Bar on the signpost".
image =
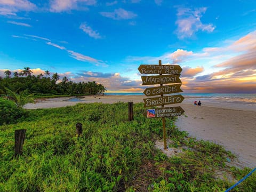
<svg viewBox="0 0 256 192">
<path fill-rule="evenodd" d="M 140 65 L 141 74 L 169 74 L 179 75 L 182 68 L 178 65 Z"/>
</svg>

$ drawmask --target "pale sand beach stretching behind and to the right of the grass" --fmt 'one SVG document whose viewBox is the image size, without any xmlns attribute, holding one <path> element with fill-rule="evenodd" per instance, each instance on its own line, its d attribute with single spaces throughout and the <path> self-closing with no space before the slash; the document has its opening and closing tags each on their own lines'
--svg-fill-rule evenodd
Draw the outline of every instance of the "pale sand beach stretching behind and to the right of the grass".
<svg viewBox="0 0 256 192">
<path fill-rule="evenodd" d="M 81 101 L 54 98 L 28 103 L 26 109 L 53 108 L 76 105 L 78 102 L 115 103 L 143 102 L 144 95 L 85 96 Z M 197 99 L 198 100 L 198 99 Z M 181 106 L 185 115 L 176 125 L 197 139 L 209 140 L 224 146 L 237 155 L 243 166 L 256 167 L 256 105 L 243 102 L 214 102 L 202 99 L 202 106 L 194 106 L 194 98 L 174 106 Z"/>
</svg>

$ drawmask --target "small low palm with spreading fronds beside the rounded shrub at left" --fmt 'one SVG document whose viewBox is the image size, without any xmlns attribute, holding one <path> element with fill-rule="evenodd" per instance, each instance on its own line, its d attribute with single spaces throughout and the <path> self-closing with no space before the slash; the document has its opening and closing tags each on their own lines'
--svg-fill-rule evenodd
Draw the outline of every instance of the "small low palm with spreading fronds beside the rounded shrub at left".
<svg viewBox="0 0 256 192">
<path fill-rule="evenodd" d="M 8 98 L 13 100 L 19 108 L 22 108 L 29 102 L 35 103 L 35 100 L 33 98 L 33 95 L 35 93 L 27 94 L 26 91 L 20 91 L 19 93 L 17 93 L 17 92 L 11 91 L 7 87 L 5 87 L 5 90 L 9 94 Z"/>
</svg>

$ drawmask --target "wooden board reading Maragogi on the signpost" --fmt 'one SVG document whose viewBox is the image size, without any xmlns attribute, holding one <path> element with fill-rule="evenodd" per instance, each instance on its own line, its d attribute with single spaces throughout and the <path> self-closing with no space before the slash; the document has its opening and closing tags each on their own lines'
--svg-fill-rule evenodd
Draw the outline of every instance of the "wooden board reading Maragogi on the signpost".
<svg viewBox="0 0 256 192">
<path fill-rule="evenodd" d="M 156 85 L 166 83 L 181 83 L 180 75 L 154 75 L 142 76 L 142 85 Z"/>
</svg>

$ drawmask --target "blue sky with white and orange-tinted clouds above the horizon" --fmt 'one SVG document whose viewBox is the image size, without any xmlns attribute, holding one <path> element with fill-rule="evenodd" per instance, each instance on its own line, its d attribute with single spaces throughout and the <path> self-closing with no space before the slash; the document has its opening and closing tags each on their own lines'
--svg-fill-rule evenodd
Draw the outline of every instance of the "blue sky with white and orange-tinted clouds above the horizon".
<svg viewBox="0 0 256 192">
<path fill-rule="evenodd" d="M 0 0 L 0 76 L 30 67 L 143 92 L 141 64 L 178 64 L 185 92 L 256 91 L 256 1 Z"/>
</svg>

